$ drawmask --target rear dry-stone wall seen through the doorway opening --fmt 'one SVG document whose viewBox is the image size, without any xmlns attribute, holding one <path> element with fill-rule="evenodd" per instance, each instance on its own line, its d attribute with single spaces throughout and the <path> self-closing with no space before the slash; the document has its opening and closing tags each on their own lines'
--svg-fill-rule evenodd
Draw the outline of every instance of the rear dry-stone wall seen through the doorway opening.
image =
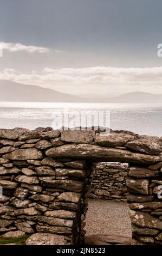
<svg viewBox="0 0 162 256">
<path fill-rule="evenodd" d="M 126 202 L 128 164 L 101 162 L 93 165 L 94 176 L 91 180 L 89 198 Z"/>
</svg>

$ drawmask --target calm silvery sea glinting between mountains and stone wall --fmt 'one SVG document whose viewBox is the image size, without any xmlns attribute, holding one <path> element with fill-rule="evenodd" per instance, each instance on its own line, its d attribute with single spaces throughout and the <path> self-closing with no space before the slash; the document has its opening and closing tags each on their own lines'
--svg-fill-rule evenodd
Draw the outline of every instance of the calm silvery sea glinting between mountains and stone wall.
<svg viewBox="0 0 162 256">
<path fill-rule="evenodd" d="M 113 130 L 129 130 L 141 135 L 162 136 L 162 103 L 0 102 L 0 127 L 35 129 L 38 126 L 53 126 L 55 128 L 54 119 L 63 109 L 82 113 L 109 112 L 110 125 Z M 61 126 L 61 124 L 58 125 Z"/>
</svg>

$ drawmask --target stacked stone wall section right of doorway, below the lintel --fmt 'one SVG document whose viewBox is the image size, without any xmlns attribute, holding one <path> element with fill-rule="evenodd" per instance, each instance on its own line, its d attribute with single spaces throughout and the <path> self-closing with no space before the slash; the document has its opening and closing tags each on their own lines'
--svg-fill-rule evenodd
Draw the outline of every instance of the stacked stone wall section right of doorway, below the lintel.
<svg viewBox="0 0 162 256">
<path fill-rule="evenodd" d="M 129 165 L 126 180 L 134 245 L 162 245 L 162 162 Z"/>
</svg>

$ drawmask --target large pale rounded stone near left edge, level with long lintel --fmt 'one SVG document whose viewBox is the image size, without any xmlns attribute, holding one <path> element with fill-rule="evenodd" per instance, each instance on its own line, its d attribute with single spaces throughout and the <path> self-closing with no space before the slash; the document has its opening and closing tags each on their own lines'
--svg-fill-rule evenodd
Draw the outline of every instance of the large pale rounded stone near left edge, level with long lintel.
<svg viewBox="0 0 162 256">
<path fill-rule="evenodd" d="M 9 154 L 3 155 L 4 159 L 10 160 L 35 160 L 42 159 L 42 153 L 40 150 L 31 148 L 31 149 L 16 149 Z"/>
</svg>

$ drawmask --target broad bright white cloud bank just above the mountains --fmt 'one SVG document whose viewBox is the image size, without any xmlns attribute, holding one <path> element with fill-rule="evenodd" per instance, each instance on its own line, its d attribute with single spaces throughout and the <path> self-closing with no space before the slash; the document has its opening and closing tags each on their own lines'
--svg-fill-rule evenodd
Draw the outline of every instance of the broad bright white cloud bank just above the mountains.
<svg viewBox="0 0 162 256">
<path fill-rule="evenodd" d="M 66 93 L 152 92 L 162 93 L 162 66 L 153 68 L 116 68 L 94 66 L 88 68 L 44 68 L 31 74 L 5 69 L 0 79 L 36 84 Z"/>
</svg>

